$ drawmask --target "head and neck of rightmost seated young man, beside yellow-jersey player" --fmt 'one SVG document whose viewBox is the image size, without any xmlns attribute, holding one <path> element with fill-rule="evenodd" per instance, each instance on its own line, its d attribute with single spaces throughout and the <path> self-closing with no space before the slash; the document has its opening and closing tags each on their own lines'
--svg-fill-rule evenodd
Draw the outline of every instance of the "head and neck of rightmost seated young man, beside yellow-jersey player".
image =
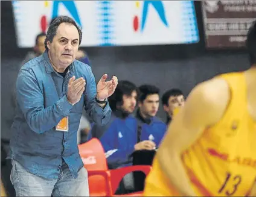
<svg viewBox="0 0 256 197">
<path fill-rule="evenodd" d="M 162 96 L 162 105 L 164 107 L 164 111 L 167 113 L 167 125 L 171 122 L 174 109 L 177 107 L 183 107 L 184 104 L 184 94 L 180 89 L 171 89 L 164 93 Z"/>
</svg>

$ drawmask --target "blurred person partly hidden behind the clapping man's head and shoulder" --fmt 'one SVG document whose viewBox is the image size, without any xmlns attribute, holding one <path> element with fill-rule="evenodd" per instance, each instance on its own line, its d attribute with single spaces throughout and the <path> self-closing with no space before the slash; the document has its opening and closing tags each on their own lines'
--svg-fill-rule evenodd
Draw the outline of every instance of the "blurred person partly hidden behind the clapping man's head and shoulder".
<svg viewBox="0 0 256 197">
<path fill-rule="evenodd" d="M 32 60 L 33 58 L 43 54 L 43 52 L 45 51 L 45 38 L 46 38 L 45 33 L 40 33 L 36 36 L 36 42 L 35 42 L 33 51 L 28 52 L 28 54 L 22 61 L 21 66 L 23 66 L 25 63 Z"/>
</svg>

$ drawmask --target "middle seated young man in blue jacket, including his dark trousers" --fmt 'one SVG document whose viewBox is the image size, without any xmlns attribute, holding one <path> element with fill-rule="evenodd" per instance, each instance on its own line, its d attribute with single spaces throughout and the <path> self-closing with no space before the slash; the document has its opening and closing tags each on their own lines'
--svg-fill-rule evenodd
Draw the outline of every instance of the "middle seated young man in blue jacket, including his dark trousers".
<svg viewBox="0 0 256 197">
<path fill-rule="evenodd" d="M 139 92 L 139 108 L 136 111 L 138 142 L 150 140 L 158 148 L 167 130 L 166 124 L 156 117 L 159 109 L 159 89 L 155 86 L 143 85 L 139 87 Z M 151 165 L 154 156 L 155 151 L 136 151 L 133 153 L 133 164 Z M 144 190 L 145 178 L 142 172 L 133 173 L 135 191 Z"/>
</svg>

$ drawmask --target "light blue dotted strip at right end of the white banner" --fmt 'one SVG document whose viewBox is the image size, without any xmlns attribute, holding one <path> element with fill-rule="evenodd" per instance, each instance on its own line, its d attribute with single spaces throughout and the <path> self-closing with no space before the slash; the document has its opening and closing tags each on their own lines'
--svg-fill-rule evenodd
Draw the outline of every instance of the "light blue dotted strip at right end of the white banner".
<svg viewBox="0 0 256 197">
<path fill-rule="evenodd" d="M 184 42 L 196 43 L 199 42 L 199 33 L 196 20 L 196 11 L 194 9 L 193 1 L 182 1 L 182 9 L 184 14 L 182 16 L 182 27 L 184 30 Z"/>
</svg>

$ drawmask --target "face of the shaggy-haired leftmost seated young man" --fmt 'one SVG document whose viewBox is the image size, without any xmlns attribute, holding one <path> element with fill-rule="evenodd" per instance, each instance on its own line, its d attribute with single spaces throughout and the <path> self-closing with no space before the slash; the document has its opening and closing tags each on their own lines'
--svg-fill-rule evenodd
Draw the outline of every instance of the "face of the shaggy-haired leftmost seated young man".
<svg viewBox="0 0 256 197">
<path fill-rule="evenodd" d="M 133 113 L 136 107 L 137 92 L 133 90 L 131 95 L 123 95 L 123 105 L 121 108 L 128 112 Z"/>
</svg>

